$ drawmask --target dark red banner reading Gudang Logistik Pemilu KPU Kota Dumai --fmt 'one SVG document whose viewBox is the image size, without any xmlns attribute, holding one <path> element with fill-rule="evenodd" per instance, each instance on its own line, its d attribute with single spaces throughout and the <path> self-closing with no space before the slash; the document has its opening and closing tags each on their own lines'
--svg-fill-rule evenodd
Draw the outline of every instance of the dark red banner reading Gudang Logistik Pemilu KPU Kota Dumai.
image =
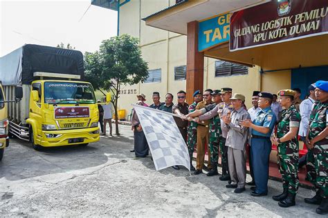
<svg viewBox="0 0 328 218">
<path fill-rule="evenodd" d="M 230 51 L 328 34 L 327 0 L 270 1 L 230 17 Z"/>
</svg>

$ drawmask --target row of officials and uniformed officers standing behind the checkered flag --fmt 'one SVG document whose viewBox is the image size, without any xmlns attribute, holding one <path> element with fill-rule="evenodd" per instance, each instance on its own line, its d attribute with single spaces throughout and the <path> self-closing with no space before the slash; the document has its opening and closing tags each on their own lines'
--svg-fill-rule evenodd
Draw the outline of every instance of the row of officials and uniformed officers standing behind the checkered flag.
<svg viewBox="0 0 328 218">
<path fill-rule="evenodd" d="M 277 145 L 277 164 L 282 175 L 282 194 L 274 195 L 281 207 L 295 205 L 298 192 L 298 168 L 306 164 L 307 180 L 316 188 L 316 195 L 305 198 L 308 204 L 319 205 L 318 214 L 328 213 L 328 81 L 317 81 L 308 88 L 307 99 L 300 100 L 300 89 L 280 90 L 277 95 L 253 92 L 253 107 L 246 110 L 245 97 L 234 93 L 232 88 L 207 89 L 194 92 L 194 102 L 185 102 L 184 91 L 171 93 L 161 102 L 154 92 L 150 108 L 172 112 L 185 143 L 190 160 L 197 150 L 197 166 L 190 161 L 194 175 L 208 171 L 207 176 L 219 175 L 218 161 L 221 154 L 222 173 L 219 179 L 228 181 L 226 188 L 235 193 L 244 192 L 250 185 L 250 195 L 261 197 L 268 194 L 268 162 L 272 144 Z M 145 95 L 138 95 L 138 105 L 148 106 Z M 131 119 L 134 130 L 136 157 L 146 157 L 149 148 L 143 128 L 136 113 Z M 299 159 L 299 140 L 308 148 L 304 159 Z M 208 145 L 208 165 L 204 158 Z M 249 149 L 246 147 L 249 146 Z M 248 154 L 246 154 L 248 150 Z M 252 181 L 246 183 L 246 155 L 250 162 Z M 173 166 L 179 170 L 179 166 Z"/>
</svg>

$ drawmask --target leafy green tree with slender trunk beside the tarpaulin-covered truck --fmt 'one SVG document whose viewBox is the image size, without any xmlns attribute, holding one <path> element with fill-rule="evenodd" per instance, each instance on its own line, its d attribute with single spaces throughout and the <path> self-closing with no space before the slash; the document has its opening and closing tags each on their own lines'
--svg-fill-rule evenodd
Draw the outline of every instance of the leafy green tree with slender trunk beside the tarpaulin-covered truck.
<svg viewBox="0 0 328 218">
<path fill-rule="evenodd" d="M 141 57 L 138 39 L 128 34 L 102 41 L 100 50 L 84 54 L 85 77 L 95 90 L 111 92 L 116 135 L 118 132 L 118 99 L 120 87 L 134 85 L 148 77 L 148 64 Z"/>
</svg>

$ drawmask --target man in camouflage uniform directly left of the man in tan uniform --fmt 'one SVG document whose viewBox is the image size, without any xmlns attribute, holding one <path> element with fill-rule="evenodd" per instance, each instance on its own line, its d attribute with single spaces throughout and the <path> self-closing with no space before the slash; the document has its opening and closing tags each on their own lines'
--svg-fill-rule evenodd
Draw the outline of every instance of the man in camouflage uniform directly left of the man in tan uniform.
<svg viewBox="0 0 328 218">
<path fill-rule="evenodd" d="M 188 113 L 194 112 L 194 110 L 196 110 L 197 103 L 203 100 L 203 96 L 201 95 L 200 90 L 194 92 L 192 97 L 194 97 L 194 103 L 190 104 L 188 108 Z M 195 121 L 190 121 L 187 131 L 187 146 L 190 157 L 190 170 L 194 171 L 196 169 L 194 168 L 194 166 L 192 166 L 192 155 L 194 154 L 194 147 L 197 143 L 197 123 Z"/>
</svg>

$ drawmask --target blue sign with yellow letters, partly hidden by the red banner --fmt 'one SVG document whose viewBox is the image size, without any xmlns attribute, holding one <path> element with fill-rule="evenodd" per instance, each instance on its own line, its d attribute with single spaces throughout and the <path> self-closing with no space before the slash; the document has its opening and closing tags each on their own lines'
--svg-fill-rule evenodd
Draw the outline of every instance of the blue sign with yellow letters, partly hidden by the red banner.
<svg viewBox="0 0 328 218">
<path fill-rule="evenodd" d="M 202 52 L 230 38 L 230 12 L 199 22 L 198 50 Z"/>
</svg>

